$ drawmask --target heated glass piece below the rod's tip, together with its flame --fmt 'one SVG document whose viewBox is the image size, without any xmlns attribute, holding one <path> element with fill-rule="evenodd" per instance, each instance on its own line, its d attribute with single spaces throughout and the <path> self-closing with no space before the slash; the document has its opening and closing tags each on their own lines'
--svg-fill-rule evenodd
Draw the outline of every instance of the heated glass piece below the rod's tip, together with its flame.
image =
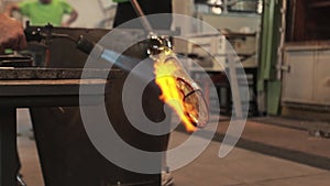
<svg viewBox="0 0 330 186">
<path fill-rule="evenodd" d="M 155 81 L 162 90 L 161 100 L 178 114 L 188 132 L 205 127 L 209 116 L 200 88 L 169 47 L 157 50 L 151 57 L 155 61 Z"/>
</svg>

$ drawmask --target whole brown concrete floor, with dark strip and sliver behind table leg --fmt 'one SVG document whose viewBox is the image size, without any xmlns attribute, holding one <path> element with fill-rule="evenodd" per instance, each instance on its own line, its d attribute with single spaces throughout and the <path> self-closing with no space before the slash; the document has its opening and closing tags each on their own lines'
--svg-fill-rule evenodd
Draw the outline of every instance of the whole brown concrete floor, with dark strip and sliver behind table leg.
<svg viewBox="0 0 330 186">
<path fill-rule="evenodd" d="M 43 186 L 35 143 L 29 138 L 29 116 L 25 110 L 20 110 L 18 114 L 21 173 L 29 186 Z M 226 124 L 220 123 L 218 135 L 223 134 Z M 170 146 L 177 145 L 187 136 L 185 132 L 174 131 Z M 173 172 L 176 186 L 330 184 L 329 139 L 309 136 L 302 130 L 249 121 L 238 146 L 224 158 L 218 157 L 218 140 L 215 139 L 193 163 Z"/>
</svg>

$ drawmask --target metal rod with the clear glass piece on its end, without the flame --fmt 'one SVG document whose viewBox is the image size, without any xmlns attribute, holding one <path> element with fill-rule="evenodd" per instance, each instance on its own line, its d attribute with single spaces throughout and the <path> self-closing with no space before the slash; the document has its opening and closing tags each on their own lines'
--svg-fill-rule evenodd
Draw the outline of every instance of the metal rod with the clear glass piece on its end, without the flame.
<svg viewBox="0 0 330 186">
<path fill-rule="evenodd" d="M 184 70 L 183 66 L 176 55 L 172 52 L 172 43 L 168 39 L 157 35 L 152 25 L 150 24 L 147 18 L 143 13 L 140 4 L 136 0 L 131 0 L 131 4 L 134 8 L 138 15 L 140 15 L 141 23 L 144 30 L 148 33 L 148 50 L 147 54 L 155 62 L 160 62 L 160 58 L 166 58 L 163 64 L 175 64 L 177 70 L 173 74 L 176 77 L 176 84 L 180 92 L 184 94 L 184 102 L 194 108 L 197 112 L 196 114 L 186 112 L 185 117 L 188 118 L 189 122 L 197 128 L 202 128 L 208 122 L 208 107 L 202 97 L 200 87 L 189 77 L 189 75 Z M 172 54 L 172 55 L 170 55 Z M 163 56 L 163 57 L 162 57 Z M 162 63 L 162 62 L 161 62 Z M 166 65 L 164 65 L 166 66 Z M 162 88 L 162 87 L 160 87 Z M 189 102 L 189 103 L 188 103 Z M 194 102 L 194 103 L 193 103 Z M 182 116 L 183 117 L 183 116 Z M 191 129 L 187 129 L 193 131 Z"/>
</svg>

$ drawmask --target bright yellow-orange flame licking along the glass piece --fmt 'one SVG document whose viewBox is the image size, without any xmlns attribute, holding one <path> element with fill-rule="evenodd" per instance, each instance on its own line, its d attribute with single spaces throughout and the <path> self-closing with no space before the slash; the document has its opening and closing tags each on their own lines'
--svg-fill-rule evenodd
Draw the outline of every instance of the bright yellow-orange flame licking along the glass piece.
<svg viewBox="0 0 330 186">
<path fill-rule="evenodd" d="M 179 89 L 180 85 L 175 76 L 175 72 L 179 67 L 176 65 L 175 58 L 165 61 L 169 54 L 172 53 L 165 52 L 164 54 L 160 54 L 154 64 L 155 83 L 162 90 L 160 99 L 178 114 L 188 132 L 194 132 L 197 129 L 194 120 L 196 121 L 197 119 L 191 118 L 194 114 L 190 113 L 196 113 L 196 109 L 190 103 L 185 102 L 185 95 Z"/>
</svg>

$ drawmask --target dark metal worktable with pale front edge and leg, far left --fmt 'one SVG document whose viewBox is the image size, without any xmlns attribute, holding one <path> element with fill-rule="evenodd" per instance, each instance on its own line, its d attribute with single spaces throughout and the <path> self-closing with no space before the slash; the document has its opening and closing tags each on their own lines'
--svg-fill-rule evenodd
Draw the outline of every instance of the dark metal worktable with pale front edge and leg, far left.
<svg viewBox="0 0 330 186">
<path fill-rule="evenodd" d="M 16 108 L 79 106 L 79 86 L 96 88 L 107 79 L 106 70 L 90 69 L 89 79 L 79 79 L 82 69 L 0 69 L 0 185 L 15 186 L 18 174 Z M 118 70 L 120 73 L 120 70 Z M 100 77 L 100 76 L 99 76 Z M 103 92 L 91 92 L 94 98 Z M 90 99 L 90 103 L 97 103 Z"/>
</svg>

